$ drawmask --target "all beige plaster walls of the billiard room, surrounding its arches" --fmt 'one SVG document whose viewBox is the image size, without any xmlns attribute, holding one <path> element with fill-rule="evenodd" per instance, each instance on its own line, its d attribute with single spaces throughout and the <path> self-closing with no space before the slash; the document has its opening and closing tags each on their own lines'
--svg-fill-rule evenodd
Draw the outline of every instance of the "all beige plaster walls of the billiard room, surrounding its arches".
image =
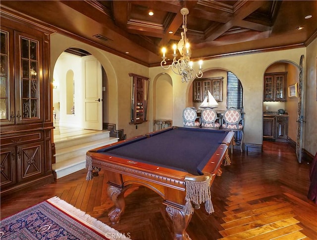
<svg viewBox="0 0 317 240">
<path fill-rule="evenodd" d="M 316 40 L 309 46 L 310 54 L 307 56 L 307 67 L 309 67 L 310 81 L 307 83 L 308 88 L 312 88 L 312 93 L 307 96 L 310 97 L 308 102 L 311 102 L 313 91 L 315 91 L 315 102 L 310 103 L 308 110 L 312 112 L 316 110 Z M 153 120 L 160 110 L 157 112 L 157 96 L 155 94 L 156 83 L 162 76 L 162 73 L 169 76 L 172 85 L 172 110 L 169 110 L 168 117 L 171 116 L 173 125 L 182 126 L 182 111 L 185 107 L 192 105 L 192 100 L 189 99 L 190 86 L 192 82 L 182 83 L 180 77 L 171 72 L 171 70 L 163 70 L 161 67 L 147 68 L 140 64 L 123 59 L 106 51 L 97 49 L 88 44 L 81 43 L 77 40 L 64 37 L 59 34 L 52 34 L 51 36 L 51 69 L 53 70 L 54 64 L 58 56 L 68 47 L 79 47 L 92 53 L 103 65 L 107 79 L 108 79 L 108 106 L 104 111 L 108 111 L 108 118 L 110 123 L 116 123 L 118 129 L 124 129 L 127 137 L 132 137 L 144 134 L 153 129 Z M 306 54 L 306 48 L 296 48 L 290 50 L 281 50 L 274 52 L 264 52 L 246 55 L 236 55 L 230 57 L 222 57 L 207 60 L 204 62 L 204 72 L 214 69 L 233 72 L 241 81 L 244 90 L 244 111 L 245 111 L 245 143 L 262 144 L 262 118 L 263 118 L 263 78 L 264 73 L 268 66 L 275 62 L 284 60 L 299 65 L 300 56 Z M 197 64 L 196 64 L 197 65 Z M 138 74 L 150 78 L 150 91 L 149 91 L 149 109 L 148 109 L 148 122 L 138 125 L 129 124 L 130 122 L 130 106 L 131 106 L 131 80 L 128 77 L 129 73 Z M 51 71 L 53 75 L 53 71 Z M 51 76 L 53 77 L 53 76 Z M 164 77 L 164 78 L 165 78 Z M 313 82 L 312 82 L 313 81 Z M 225 83 L 224 83 L 225 84 Z M 166 85 L 167 87 L 168 85 Z M 169 86 L 168 86 L 169 87 Z M 164 92 L 160 90 L 160 92 Z M 172 111 L 172 113 L 171 113 Z M 159 117 L 159 116 L 158 116 Z M 309 140 L 305 140 L 305 146 L 309 148 L 310 153 L 316 152 L 315 136 L 310 136 L 307 132 L 316 133 L 317 121 L 316 111 L 314 117 L 307 118 L 306 124 L 310 127 L 310 131 L 306 130 L 306 136 Z"/>
</svg>

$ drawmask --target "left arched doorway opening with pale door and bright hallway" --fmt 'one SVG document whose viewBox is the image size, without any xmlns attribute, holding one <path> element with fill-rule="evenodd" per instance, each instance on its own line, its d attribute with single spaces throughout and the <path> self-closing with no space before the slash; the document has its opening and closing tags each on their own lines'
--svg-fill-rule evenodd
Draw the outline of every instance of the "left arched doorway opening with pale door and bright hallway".
<svg viewBox="0 0 317 240">
<path fill-rule="evenodd" d="M 56 61 L 53 70 L 57 86 L 53 89 L 54 124 L 102 130 L 102 67 L 93 55 L 86 53 L 78 55 L 64 51 Z"/>
</svg>

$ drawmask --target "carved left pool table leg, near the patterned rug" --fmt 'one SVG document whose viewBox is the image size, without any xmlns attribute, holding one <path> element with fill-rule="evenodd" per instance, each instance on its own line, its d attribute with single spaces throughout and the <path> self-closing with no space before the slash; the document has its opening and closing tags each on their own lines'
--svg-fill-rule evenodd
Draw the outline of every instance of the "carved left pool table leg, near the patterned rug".
<svg viewBox="0 0 317 240">
<path fill-rule="evenodd" d="M 108 217 L 112 224 L 118 223 L 120 220 L 120 216 L 124 212 L 125 201 L 124 201 L 124 191 L 121 188 L 115 186 L 108 186 L 108 197 L 114 203 L 114 209 L 108 213 Z"/>
</svg>

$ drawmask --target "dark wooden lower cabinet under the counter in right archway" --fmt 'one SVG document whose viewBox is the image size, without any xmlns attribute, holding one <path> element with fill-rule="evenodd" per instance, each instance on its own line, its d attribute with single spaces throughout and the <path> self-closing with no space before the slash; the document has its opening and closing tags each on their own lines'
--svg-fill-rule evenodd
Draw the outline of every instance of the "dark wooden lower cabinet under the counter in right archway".
<svg viewBox="0 0 317 240">
<path fill-rule="evenodd" d="M 276 142 L 287 141 L 288 116 L 265 116 L 263 118 L 263 139 Z"/>
</svg>

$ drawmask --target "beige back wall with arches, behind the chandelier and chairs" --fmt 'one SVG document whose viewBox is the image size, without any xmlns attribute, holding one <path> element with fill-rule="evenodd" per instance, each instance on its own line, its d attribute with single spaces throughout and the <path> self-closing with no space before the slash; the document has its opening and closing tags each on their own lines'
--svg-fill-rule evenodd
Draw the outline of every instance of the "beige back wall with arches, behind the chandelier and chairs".
<svg viewBox="0 0 317 240">
<path fill-rule="evenodd" d="M 268 66 L 284 60 L 299 65 L 300 56 L 305 48 L 281 50 L 275 52 L 236 55 L 211 59 L 204 62 L 204 72 L 222 69 L 233 72 L 241 81 L 244 91 L 245 143 L 262 144 L 263 118 L 263 78 Z M 160 67 L 150 69 L 150 78 L 156 78 L 161 72 Z M 182 110 L 189 106 L 190 83 L 181 83 L 180 77 L 167 70 L 173 81 L 173 124 L 182 125 Z M 259 130 L 260 128 L 260 130 Z"/>
</svg>

